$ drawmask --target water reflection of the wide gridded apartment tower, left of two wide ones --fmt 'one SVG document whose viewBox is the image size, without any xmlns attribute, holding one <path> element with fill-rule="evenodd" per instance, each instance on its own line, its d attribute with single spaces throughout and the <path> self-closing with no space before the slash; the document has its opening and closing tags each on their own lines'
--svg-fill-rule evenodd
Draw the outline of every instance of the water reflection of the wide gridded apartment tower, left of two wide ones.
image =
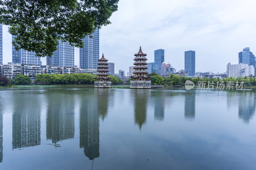
<svg viewBox="0 0 256 170">
<path fill-rule="evenodd" d="M 32 94 L 33 95 L 33 94 Z M 29 98 L 29 94 L 27 94 Z M 12 114 L 12 149 L 37 146 L 41 142 L 40 103 L 20 99 L 14 106 Z"/>
</svg>

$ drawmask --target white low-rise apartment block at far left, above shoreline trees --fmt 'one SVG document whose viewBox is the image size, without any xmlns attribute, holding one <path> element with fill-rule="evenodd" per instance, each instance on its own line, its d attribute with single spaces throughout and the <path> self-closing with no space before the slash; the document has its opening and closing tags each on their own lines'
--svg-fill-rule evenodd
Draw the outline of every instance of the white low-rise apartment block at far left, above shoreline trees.
<svg viewBox="0 0 256 170">
<path fill-rule="evenodd" d="M 14 80 L 14 78 L 18 74 L 23 74 L 23 66 L 21 63 L 4 64 L 2 68 L 3 68 L 3 76 L 5 76 L 6 78 L 11 78 L 12 80 Z"/>
</svg>

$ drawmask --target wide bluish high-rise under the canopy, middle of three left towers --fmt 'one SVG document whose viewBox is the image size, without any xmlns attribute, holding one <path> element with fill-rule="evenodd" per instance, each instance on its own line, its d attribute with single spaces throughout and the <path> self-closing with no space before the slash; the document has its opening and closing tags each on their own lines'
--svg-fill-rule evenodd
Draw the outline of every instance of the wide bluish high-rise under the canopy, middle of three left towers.
<svg viewBox="0 0 256 170">
<path fill-rule="evenodd" d="M 57 50 L 53 52 L 52 57 L 46 57 L 46 65 L 56 65 L 56 66 L 71 66 L 75 65 L 75 48 L 71 46 L 69 42 L 61 42 L 59 40 L 59 45 Z"/>
</svg>

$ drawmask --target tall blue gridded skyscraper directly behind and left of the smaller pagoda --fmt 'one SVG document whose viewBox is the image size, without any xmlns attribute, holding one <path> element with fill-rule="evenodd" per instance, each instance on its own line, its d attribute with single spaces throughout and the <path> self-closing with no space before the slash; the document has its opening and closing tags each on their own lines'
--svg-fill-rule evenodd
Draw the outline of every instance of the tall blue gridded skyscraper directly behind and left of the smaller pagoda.
<svg viewBox="0 0 256 170">
<path fill-rule="evenodd" d="M 99 59 L 99 29 L 92 33 L 92 38 L 86 36 L 83 39 L 84 47 L 80 48 L 81 69 L 97 69 Z"/>
</svg>

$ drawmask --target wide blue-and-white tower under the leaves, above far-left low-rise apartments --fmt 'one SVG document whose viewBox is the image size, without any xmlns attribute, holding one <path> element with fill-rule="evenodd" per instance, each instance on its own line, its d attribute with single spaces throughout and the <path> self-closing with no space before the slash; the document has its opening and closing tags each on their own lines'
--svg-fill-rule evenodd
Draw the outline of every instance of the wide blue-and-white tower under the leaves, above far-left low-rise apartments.
<svg viewBox="0 0 256 170">
<path fill-rule="evenodd" d="M 15 35 L 12 35 L 12 41 L 14 40 Z M 35 52 L 27 51 L 24 49 L 15 50 L 12 45 L 12 63 L 21 63 L 29 65 L 40 65 L 40 57 L 35 56 Z"/>
</svg>

